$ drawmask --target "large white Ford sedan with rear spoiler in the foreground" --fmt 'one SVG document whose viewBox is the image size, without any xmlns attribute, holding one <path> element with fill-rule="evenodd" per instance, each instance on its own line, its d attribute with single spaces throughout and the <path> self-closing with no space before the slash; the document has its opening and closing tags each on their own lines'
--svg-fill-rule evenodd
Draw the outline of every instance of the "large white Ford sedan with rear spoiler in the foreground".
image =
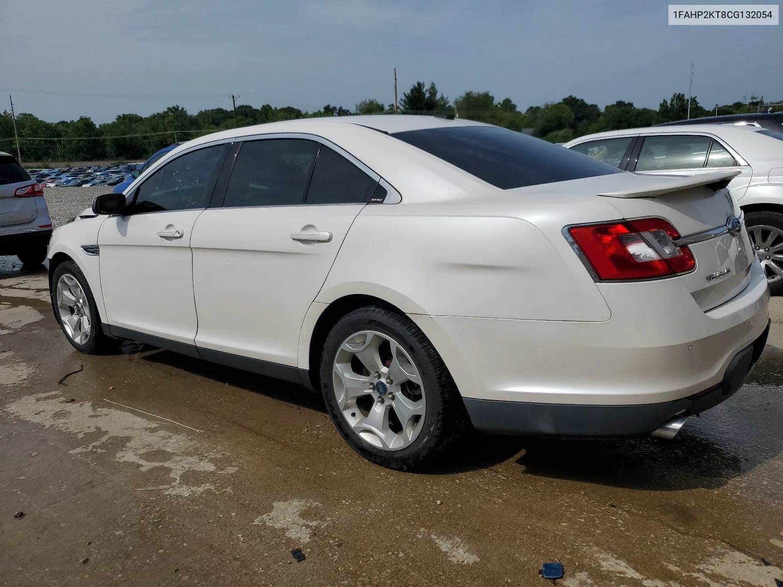
<svg viewBox="0 0 783 587">
<path fill-rule="evenodd" d="M 436 117 L 222 131 L 56 229 L 52 304 L 82 352 L 139 340 L 317 390 L 399 470 L 471 425 L 671 438 L 767 339 L 736 174 Z"/>
</svg>

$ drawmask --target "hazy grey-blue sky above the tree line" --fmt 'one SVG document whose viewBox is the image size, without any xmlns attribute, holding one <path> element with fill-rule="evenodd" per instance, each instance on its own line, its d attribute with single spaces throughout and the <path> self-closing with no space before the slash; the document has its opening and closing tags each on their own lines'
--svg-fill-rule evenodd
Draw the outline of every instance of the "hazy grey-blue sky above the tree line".
<svg viewBox="0 0 783 587">
<path fill-rule="evenodd" d="M 666 2 L 0 0 L 0 110 L 97 123 L 179 104 L 353 109 L 435 81 L 521 110 L 573 94 L 657 108 L 783 99 L 781 27 L 675 27 Z M 74 92 L 97 95 L 31 93 Z M 113 97 L 106 95 L 121 95 Z"/>
</svg>

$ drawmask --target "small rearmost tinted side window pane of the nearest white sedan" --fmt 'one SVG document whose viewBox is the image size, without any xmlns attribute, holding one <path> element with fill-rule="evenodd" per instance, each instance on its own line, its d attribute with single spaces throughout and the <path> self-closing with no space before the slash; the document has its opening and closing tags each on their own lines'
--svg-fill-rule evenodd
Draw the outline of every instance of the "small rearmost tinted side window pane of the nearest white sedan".
<svg viewBox="0 0 783 587">
<path fill-rule="evenodd" d="M 312 172 L 307 203 L 369 202 L 377 183 L 345 157 L 322 146 Z"/>
</svg>

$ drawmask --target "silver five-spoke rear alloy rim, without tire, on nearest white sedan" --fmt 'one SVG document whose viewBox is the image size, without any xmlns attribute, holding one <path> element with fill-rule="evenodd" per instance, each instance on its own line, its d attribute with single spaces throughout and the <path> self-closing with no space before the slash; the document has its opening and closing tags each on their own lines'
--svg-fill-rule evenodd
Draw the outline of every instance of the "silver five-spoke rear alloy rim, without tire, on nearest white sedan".
<svg viewBox="0 0 783 587">
<path fill-rule="evenodd" d="M 424 384 L 408 352 L 387 334 L 363 330 L 334 358 L 334 394 L 348 426 L 375 448 L 410 446 L 424 427 Z"/>
</svg>

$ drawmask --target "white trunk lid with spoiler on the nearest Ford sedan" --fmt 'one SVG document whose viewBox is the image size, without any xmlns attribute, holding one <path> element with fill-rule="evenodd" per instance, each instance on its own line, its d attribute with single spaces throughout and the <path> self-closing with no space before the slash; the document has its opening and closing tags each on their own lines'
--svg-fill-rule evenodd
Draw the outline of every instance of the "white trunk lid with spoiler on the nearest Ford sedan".
<svg viewBox="0 0 783 587">
<path fill-rule="evenodd" d="M 618 182 L 598 195 L 611 200 L 622 218 L 665 218 L 684 243 L 688 237 L 698 240 L 687 244 L 696 259 L 695 270 L 677 279 L 699 308 L 715 308 L 742 291 L 754 254 L 744 223 L 736 236 L 726 229 L 728 218 L 742 217 L 726 188 L 737 171 L 691 177 L 646 176 L 643 182 L 636 181 L 640 177 L 637 174 L 628 175 L 626 182 Z"/>
</svg>

